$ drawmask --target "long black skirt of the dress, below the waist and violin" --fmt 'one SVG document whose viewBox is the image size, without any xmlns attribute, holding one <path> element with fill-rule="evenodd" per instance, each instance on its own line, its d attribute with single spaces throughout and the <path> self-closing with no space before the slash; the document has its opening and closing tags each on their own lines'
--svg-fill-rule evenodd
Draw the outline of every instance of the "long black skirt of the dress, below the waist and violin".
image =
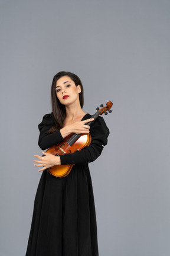
<svg viewBox="0 0 170 256">
<path fill-rule="evenodd" d="M 26 256 L 98 256 L 93 188 L 88 164 L 64 178 L 42 172 Z"/>
</svg>

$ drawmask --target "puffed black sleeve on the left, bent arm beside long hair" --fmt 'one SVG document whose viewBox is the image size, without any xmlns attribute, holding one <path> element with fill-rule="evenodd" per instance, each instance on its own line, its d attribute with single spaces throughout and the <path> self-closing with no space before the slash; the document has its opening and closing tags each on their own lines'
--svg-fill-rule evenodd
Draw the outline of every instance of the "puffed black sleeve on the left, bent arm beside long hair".
<svg viewBox="0 0 170 256">
<path fill-rule="evenodd" d="M 38 145 L 42 150 L 61 143 L 63 140 L 60 130 L 57 130 L 57 132 L 51 133 L 50 135 L 47 133 L 48 130 L 50 130 L 50 128 L 55 124 L 51 114 L 45 114 L 45 116 L 42 118 L 42 122 L 38 124 L 38 129 L 40 130 Z"/>
</svg>

